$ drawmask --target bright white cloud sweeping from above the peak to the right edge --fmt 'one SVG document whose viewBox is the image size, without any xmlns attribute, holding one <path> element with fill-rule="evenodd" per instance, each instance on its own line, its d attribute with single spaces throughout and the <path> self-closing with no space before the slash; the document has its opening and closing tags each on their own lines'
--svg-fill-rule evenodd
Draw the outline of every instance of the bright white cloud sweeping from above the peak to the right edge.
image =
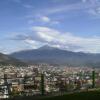
<svg viewBox="0 0 100 100">
<path fill-rule="evenodd" d="M 99 52 L 100 37 L 79 37 L 48 27 L 33 27 L 35 34 L 49 45 L 72 51 Z M 41 41 L 42 42 L 42 41 Z M 44 43 L 44 42 L 43 42 Z"/>
</svg>

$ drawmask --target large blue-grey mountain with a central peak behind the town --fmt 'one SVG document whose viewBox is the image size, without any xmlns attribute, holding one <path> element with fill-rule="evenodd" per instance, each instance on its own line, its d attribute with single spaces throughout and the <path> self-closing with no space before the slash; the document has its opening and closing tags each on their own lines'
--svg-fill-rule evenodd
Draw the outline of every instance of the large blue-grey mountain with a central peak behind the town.
<svg viewBox="0 0 100 100">
<path fill-rule="evenodd" d="M 38 49 L 19 51 L 10 56 L 32 63 L 49 63 L 68 66 L 100 67 L 100 54 L 72 52 L 43 46 Z"/>
</svg>

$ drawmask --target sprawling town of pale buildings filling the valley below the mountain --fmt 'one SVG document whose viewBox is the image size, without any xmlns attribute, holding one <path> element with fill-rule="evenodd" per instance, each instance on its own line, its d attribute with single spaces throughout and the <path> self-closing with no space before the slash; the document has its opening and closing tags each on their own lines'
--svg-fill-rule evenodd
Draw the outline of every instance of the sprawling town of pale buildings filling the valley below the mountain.
<svg viewBox="0 0 100 100">
<path fill-rule="evenodd" d="M 99 87 L 99 68 L 49 64 L 0 66 L 0 98 L 69 93 Z"/>
</svg>

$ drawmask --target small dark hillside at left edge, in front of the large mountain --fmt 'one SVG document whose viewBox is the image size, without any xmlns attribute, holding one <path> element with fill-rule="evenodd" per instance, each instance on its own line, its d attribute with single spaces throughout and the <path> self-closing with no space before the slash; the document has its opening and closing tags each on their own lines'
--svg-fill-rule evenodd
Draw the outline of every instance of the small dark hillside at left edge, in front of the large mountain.
<svg viewBox="0 0 100 100">
<path fill-rule="evenodd" d="M 16 65 L 16 66 L 24 65 L 25 66 L 27 64 L 24 62 L 21 62 L 18 59 L 15 59 L 13 57 L 0 53 L 0 65 Z"/>
</svg>

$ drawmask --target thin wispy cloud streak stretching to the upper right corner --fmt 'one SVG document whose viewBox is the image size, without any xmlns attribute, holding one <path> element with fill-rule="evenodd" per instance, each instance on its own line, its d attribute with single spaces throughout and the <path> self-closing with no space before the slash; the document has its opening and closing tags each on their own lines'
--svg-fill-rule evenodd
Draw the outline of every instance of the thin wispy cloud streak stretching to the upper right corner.
<svg viewBox="0 0 100 100">
<path fill-rule="evenodd" d="M 99 0 L 81 0 L 80 2 L 74 2 L 71 4 L 62 3 L 56 6 L 48 7 L 47 9 L 39 9 L 39 13 L 43 15 L 49 16 L 53 14 L 61 14 L 61 13 L 68 13 L 73 11 L 84 11 L 89 15 L 98 16 L 100 8 L 100 1 Z"/>
</svg>

